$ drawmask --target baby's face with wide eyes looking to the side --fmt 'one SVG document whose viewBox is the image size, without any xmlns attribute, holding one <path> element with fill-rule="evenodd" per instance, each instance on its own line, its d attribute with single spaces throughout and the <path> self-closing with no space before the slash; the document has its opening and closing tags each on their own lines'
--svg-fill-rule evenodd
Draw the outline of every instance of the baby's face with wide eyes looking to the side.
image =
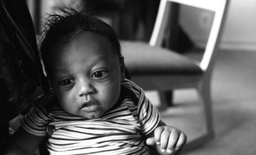
<svg viewBox="0 0 256 155">
<path fill-rule="evenodd" d="M 124 66 L 108 40 L 84 32 L 51 52 L 50 80 L 63 110 L 93 119 L 116 104 Z"/>
</svg>

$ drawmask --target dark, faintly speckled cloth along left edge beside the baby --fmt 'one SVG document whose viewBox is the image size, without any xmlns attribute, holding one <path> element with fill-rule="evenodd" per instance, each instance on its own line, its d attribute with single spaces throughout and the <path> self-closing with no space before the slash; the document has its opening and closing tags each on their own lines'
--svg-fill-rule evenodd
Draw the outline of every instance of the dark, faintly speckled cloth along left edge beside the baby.
<svg viewBox="0 0 256 155">
<path fill-rule="evenodd" d="M 33 22 L 23 0 L 0 1 L 0 145 L 8 122 L 32 103 L 38 86 L 48 90 L 42 72 Z"/>
</svg>

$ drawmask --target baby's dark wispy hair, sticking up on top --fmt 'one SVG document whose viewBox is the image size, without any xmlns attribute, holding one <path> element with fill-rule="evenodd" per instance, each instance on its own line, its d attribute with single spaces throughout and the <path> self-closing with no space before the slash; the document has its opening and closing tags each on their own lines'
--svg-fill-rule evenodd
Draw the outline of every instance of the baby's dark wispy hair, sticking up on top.
<svg viewBox="0 0 256 155">
<path fill-rule="evenodd" d="M 72 8 L 66 9 L 60 10 L 59 14 L 49 15 L 45 30 L 42 33 L 40 54 L 46 70 L 50 67 L 47 62 L 48 58 L 51 57 L 50 49 L 59 36 L 64 37 L 66 41 L 70 41 L 71 37 L 79 33 L 92 31 L 107 39 L 117 56 L 121 56 L 120 42 L 109 24 L 87 13 L 79 12 Z"/>
</svg>

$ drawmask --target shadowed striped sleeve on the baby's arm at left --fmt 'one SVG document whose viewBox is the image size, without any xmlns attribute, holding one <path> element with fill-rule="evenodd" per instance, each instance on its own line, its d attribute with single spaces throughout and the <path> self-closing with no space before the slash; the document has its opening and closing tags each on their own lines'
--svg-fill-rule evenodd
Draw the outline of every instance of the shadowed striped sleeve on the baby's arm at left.
<svg viewBox="0 0 256 155">
<path fill-rule="evenodd" d="M 47 126 L 52 118 L 44 108 L 44 99 L 38 97 L 35 99 L 33 107 L 30 111 L 20 120 L 21 126 L 25 131 L 36 136 L 46 136 Z"/>
</svg>

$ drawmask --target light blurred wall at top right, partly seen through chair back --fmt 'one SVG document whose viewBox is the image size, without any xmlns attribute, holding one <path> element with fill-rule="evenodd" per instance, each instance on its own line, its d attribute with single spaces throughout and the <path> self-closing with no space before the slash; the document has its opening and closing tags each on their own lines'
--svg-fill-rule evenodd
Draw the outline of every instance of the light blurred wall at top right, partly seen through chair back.
<svg viewBox="0 0 256 155">
<path fill-rule="evenodd" d="M 180 24 L 196 44 L 203 46 L 213 14 L 181 6 Z M 199 25 L 199 28 L 197 28 Z M 230 0 L 221 48 L 256 51 L 256 1 Z"/>
</svg>

